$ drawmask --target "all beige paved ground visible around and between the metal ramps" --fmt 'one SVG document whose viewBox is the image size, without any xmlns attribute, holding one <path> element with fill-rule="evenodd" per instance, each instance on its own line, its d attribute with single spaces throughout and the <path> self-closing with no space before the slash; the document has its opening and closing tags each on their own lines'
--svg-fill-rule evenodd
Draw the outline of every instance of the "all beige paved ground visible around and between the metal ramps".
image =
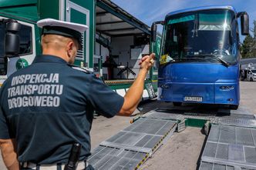
<svg viewBox="0 0 256 170">
<path fill-rule="evenodd" d="M 241 105 L 247 107 L 256 114 L 256 82 L 241 82 Z M 140 105 L 142 112 L 148 112 L 154 108 L 167 107 L 171 104 L 164 102 L 147 102 Z M 96 148 L 100 142 L 130 125 L 131 118 L 116 116 L 103 118 L 96 116 L 91 131 L 92 148 Z M 143 169 L 197 169 L 201 148 L 204 145 L 205 135 L 200 128 L 186 128 L 184 132 L 174 135 L 162 145 L 152 158 L 142 166 Z M 0 170 L 5 170 L 5 165 L 0 157 Z"/>
</svg>

